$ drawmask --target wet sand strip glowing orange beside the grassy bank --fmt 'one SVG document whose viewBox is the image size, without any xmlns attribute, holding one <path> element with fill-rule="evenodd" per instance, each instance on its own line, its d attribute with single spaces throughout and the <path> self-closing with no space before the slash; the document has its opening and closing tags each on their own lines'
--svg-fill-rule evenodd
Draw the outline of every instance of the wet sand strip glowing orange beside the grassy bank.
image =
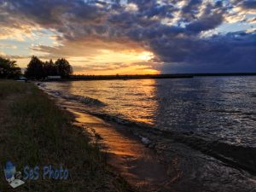
<svg viewBox="0 0 256 192">
<path fill-rule="evenodd" d="M 124 127 L 119 126 L 116 130 L 102 119 L 71 111 L 76 116 L 77 125 L 93 129 L 102 137 L 108 163 L 131 185 L 139 191 L 170 191 L 167 183 L 172 179 L 167 175 L 166 166 L 160 163 L 158 154 L 146 148 L 137 137 Z"/>
</svg>

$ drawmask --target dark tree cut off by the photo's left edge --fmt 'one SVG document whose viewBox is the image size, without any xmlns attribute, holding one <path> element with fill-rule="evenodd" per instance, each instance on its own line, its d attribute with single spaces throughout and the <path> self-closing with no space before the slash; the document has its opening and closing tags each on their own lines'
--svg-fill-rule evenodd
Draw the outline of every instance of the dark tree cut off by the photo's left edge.
<svg viewBox="0 0 256 192">
<path fill-rule="evenodd" d="M 16 61 L 10 61 L 0 57 L 0 78 L 18 78 L 21 75 L 20 67 Z"/>
</svg>

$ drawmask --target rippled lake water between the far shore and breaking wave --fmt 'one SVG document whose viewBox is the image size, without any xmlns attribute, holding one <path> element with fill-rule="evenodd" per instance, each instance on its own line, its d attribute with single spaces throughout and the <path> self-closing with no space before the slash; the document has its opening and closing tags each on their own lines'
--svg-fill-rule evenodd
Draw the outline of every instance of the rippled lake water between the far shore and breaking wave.
<svg viewBox="0 0 256 192">
<path fill-rule="evenodd" d="M 136 79 L 45 83 L 84 110 L 256 147 L 256 78 Z"/>
</svg>

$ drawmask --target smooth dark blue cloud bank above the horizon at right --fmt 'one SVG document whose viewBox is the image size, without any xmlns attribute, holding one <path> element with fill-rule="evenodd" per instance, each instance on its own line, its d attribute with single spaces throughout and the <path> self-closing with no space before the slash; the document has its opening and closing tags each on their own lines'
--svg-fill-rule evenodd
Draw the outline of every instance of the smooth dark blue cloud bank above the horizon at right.
<svg viewBox="0 0 256 192">
<path fill-rule="evenodd" d="M 175 44 L 182 44 L 177 41 Z M 228 33 L 222 37 L 205 40 L 183 42 L 187 50 L 177 50 L 180 59 L 173 62 L 183 62 L 183 65 L 168 65 L 165 70 L 172 72 L 221 73 L 221 72 L 255 72 L 256 34 L 241 32 Z M 166 47 L 172 52 L 174 47 Z M 174 53 L 177 54 L 177 53 Z M 166 53 L 168 55 L 168 53 Z"/>
</svg>

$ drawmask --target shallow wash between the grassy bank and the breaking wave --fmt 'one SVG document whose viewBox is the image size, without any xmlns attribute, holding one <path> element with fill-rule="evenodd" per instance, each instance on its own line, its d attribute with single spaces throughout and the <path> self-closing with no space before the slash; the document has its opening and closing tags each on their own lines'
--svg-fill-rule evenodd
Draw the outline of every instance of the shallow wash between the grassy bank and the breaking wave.
<svg viewBox="0 0 256 192">
<path fill-rule="evenodd" d="M 137 125 L 106 122 L 86 113 L 79 102 L 56 98 L 61 108 L 75 115 L 78 125 L 100 138 L 108 163 L 138 191 L 253 192 L 256 189 L 255 176 L 205 154 L 193 135 L 175 132 L 169 135 Z"/>
</svg>

